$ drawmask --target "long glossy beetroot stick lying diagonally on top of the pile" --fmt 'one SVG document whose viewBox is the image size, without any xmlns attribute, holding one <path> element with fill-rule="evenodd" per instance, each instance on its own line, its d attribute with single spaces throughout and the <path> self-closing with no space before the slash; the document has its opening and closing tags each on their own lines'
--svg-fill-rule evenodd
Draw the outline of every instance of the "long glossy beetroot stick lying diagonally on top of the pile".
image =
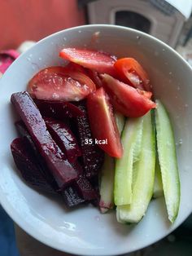
<svg viewBox="0 0 192 256">
<path fill-rule="evenodd" d="M 46 161 L 46 165 L 54 175 L 59 188 L 72 183 L 78 177 L 78 173 L 46 130 L 46 123 L 28 92 L 18 92 L 11 95 L 11 102 L 24 121 L 38 152 Z"/>
</svg>

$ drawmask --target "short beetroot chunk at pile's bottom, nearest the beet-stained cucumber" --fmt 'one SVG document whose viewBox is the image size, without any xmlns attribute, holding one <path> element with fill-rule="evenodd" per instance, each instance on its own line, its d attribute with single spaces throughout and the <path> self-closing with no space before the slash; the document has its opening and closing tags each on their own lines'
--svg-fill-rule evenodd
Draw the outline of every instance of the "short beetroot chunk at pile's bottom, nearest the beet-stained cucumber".
<svg viewBox="0 0 192 256">
<path fill-rule="evenodd" d="M 98 192 L 94 189 L 85 175 L 80 175 L 76 180 L 76 190 L 85 199 L 85 201 L 93 201 L 98 199 Z"/>
</svg>

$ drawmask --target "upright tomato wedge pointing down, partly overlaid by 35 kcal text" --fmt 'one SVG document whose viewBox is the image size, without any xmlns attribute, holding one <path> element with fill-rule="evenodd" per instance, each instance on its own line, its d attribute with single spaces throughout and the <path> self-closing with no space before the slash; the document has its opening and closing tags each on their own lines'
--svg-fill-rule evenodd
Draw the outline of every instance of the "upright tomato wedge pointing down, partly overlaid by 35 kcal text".
<svg viewBox="0 0 192 256">
<path fill-rule="evenodd" d="M 88 96 L 87 110 L 90 128 L 98 146 L 111 157 L 122 157 L 120 133 L 116 126 L 109 97 L 103 88 L 99 88 Z"/>
</svg>

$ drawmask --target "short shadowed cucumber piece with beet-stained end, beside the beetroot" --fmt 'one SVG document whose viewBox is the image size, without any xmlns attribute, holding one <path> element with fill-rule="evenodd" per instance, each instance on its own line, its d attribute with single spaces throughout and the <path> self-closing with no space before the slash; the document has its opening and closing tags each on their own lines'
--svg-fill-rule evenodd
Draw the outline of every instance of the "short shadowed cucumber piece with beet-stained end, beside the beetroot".
<svg viewBox="0 0 192 256">
<path fill-rule="evenodd" d="M 100 184 L 100 201 L 99 207 L 103 214 L 109 209 L 114 208 L 113 191 L 114 191 L 114 174 L 115 162 L 112 157 L 105 154 L 105 160 L 101 171 Z"/>
</svg>

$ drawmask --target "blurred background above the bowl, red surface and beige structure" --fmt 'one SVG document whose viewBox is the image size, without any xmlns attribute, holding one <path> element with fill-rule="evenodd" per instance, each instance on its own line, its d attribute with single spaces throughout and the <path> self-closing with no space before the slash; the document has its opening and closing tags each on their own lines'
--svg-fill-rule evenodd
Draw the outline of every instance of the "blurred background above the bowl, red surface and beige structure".
<svg viewBox="0 0 192 256">
<path fill-rule="evenodd" d="M 191 0 L 0 0 L 0 50 L 81 24 L 118 24 L 168 43 L 190 60 Z M 192 47 L 191 47 L 192 48 Z M 189 51 L 188 51 L 189 50 Z"/>
</svg>

